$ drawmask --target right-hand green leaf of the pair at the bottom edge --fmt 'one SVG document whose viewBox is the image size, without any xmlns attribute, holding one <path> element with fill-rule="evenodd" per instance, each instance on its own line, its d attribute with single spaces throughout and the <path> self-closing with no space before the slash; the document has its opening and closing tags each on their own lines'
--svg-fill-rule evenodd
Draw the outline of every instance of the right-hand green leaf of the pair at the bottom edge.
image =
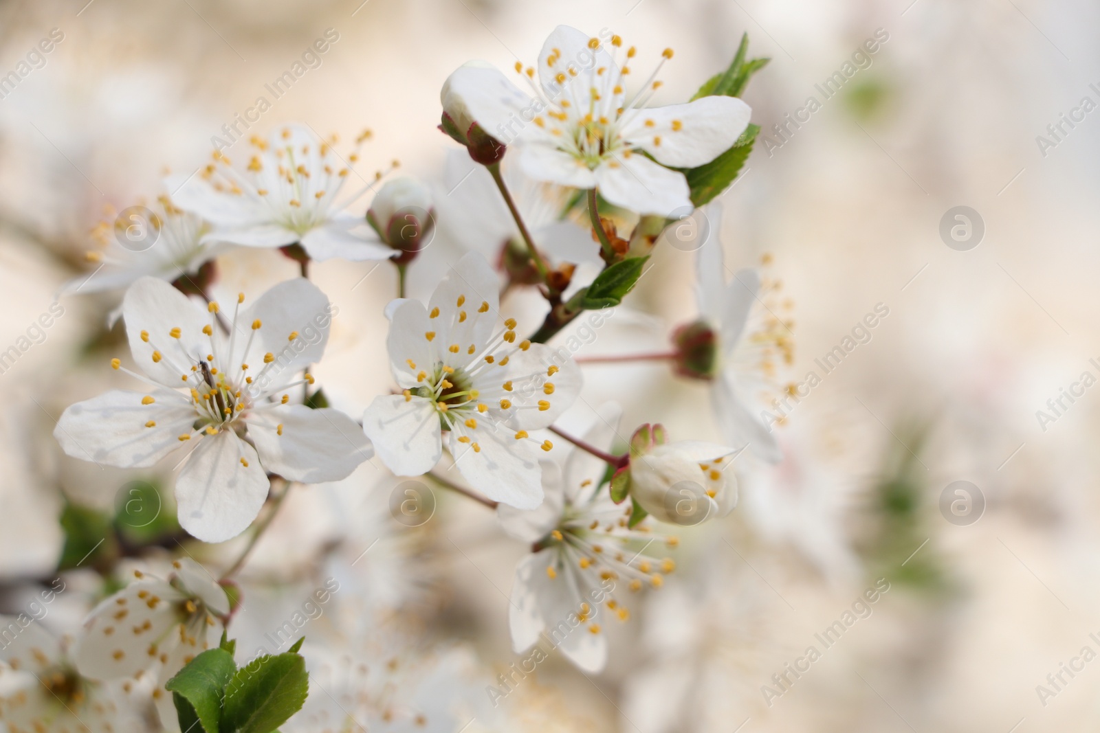
<svg viewBox="0 0 1100 733">
<path fill-rule="evenodd" d="M 257 657 L 226 688 L 221 733 L 272 733 L 301 709 L 308 693 L 309 675 L 299 654 Z"/>
</svg>

